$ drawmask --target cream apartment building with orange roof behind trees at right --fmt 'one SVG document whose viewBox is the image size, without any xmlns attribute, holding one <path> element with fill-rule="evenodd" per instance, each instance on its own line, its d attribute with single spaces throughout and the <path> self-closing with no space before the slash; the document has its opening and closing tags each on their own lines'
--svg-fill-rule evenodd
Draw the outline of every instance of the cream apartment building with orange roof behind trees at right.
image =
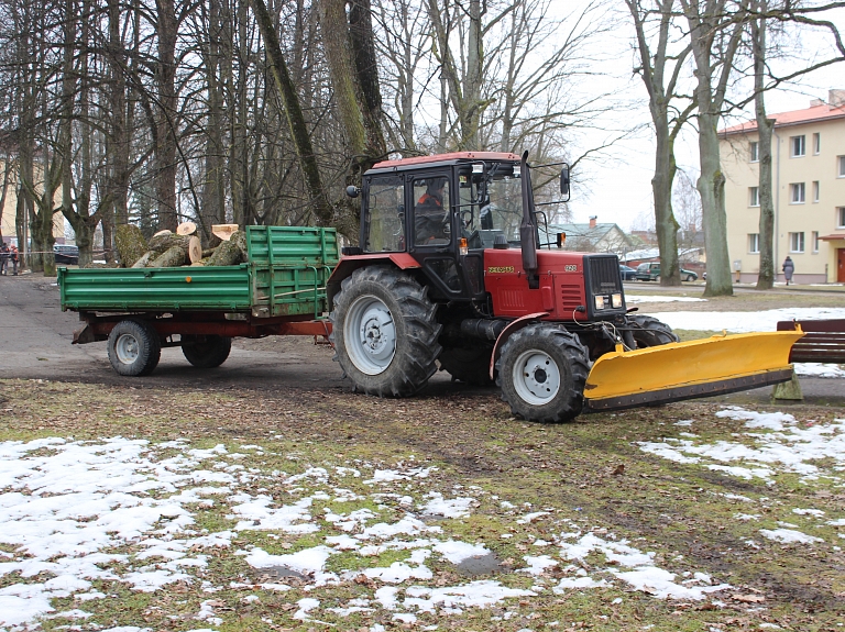
<svg viewBox="0 0 845 632">
<path fill-rule="evenodd" d="M 771 142 L 775 263 L 779 280 L 787 256 L 798 284 L 845 282 L 845 90 L 828 102 L 775 119 Z M 757 124 L 721 132 L 727 245 L 735 273 L 754 282 L 759 273 L 759 144 Z"/>
</svg>

